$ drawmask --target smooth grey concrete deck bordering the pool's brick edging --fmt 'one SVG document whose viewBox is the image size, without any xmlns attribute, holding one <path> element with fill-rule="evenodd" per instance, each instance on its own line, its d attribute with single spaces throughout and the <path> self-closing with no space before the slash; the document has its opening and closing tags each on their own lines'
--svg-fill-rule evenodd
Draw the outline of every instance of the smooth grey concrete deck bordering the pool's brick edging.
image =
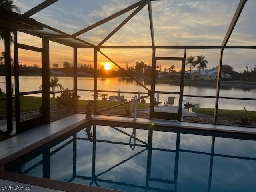
<svg viewBox="0 0 256 192">
<path fill-rule="evenodd" d="M 41 125 L 31 130 L 27 130 L 22 132 L 18 135 L 12 136 L 6 140 L 0 142 L 0 160 L 6 158 L 20 150 L 30 147 L 32 144 L 39 142 L 49 136 L 52 137 L 53 134 L 58 134 L 60 131 L 66 129 L 68 126 L 72 126 L 78 122 L 84 122 L 85 114 L 73 114 L 68 117 L 56 120 L 51 122 L 48 125 Z M 117 116 L 106 116 L 106 115 L 96 115 L 94 116 L 93 120 L 107 120 L 108 122 L 129 122 L 132 123 L 132 118 L 130 117 L 117 117 Z M 211 125 L 211 124 L 202 124 L 202 123 L 189 123 L 189 122 L 177 122 L 171 120 L 157 120 L 157 119 L 144 119 L 138 118 L 136 123 L 138 124 L 158 124 L 158 125 L 165 125 L 165 126 L 173 126 L 177 128 L 186 128 L 189 127 L 190 129 L 202 129 L 202 130 L 222 130 L 226 132 L 236 132 L 242 134 L 255 134 L 255 128 L 247 128 L 247 127 L 234 127 L 234 126 L 222 126 L 222 125 Z M 35 137 L 36 135 L 36 137 Z M 20 185 L 18 182 L 8 181 L 0 179 L 1 184 L 12 184 L 12 185 Z M 21 182 L 22 183 L 22 182 Z M 103 188 L 102 188 L 103 189 Z M 35 187 L 33 191 L 60 191 L 60 190 L 52 190 L 48 188 L 42 187 Z M 63 190 L 67 191 L 67 190 Z M 76 191 L 76 190 L 75 190 Z"/>
</svg>

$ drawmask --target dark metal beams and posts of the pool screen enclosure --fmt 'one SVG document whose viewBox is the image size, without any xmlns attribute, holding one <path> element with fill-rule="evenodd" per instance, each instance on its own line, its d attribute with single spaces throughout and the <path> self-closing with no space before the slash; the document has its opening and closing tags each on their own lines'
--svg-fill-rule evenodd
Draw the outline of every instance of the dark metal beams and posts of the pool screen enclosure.
<svg viewBox="0 0 256 192">
<path fill-rule="evenodd" d="M 26 16 L 26 17 L 30 17 L 34 14 L 36 14 L 37 12 L 43 10 L 44 8 L 50 6 L 51 4 L 57 2 L 58 0 L 45 0 L 44 2 L 42 2 L 41 4 L 39 4 L 38 6 L 32 8 L 31 10 L 27 11 L 26 13 L 22 14 L 22 16 Z M 38 24 L 40 24 L 43 28 L 46 28 L 48 30 L 52 30 L 53 32 L 58 33 L 58 35 L 52 35 L 52 34 L 42 34 L 40 32 L 36 32 L 34 30 L 19 30 L 21 32 L 33 35 L 33 36 L 37 36 L 42 38 L 43 40 L 43 48 L 42 48 L 42 66 L 45 66 L 45 70 L 42 69 L 42 76 L 43 76 L 43 80 L 42 80 L 42 85 L 43 85 L 43 89 L 42 89 L 42 94 L 43 94 L 43 123 L 44 124 L 48 124 L 50 123 L 50 100 L 49 100 L 49 95 L 50 95 L 50 90 L 48 89 L 48 79 L 50 78 L 50 66 L 49 66 L 49 41 L 53 41 L 53 42 L 57 42 L 66 46 L 70 46 L 73 48 L 73 52 L 74 52 L 74 87 L 73 91 L 74 92 L 74 97 L 76 97 L 77 95 L 77 91 L 91 91 L 94 92 L 94 114 L 99 114 L 99 112 L 97 112 L 97 92 L 116 92 L 116 91 L 106 91 L 106 90 L 97 90 L 97 77 L 98 77 L 98 62 L 97 62 L 97 56 L 98 53 L 101 53 L 103 56 L 105 56 L 106 58 L 108 58 L 108 60 L 110 60 L 112 63 L 114 63 L 116 66 L 118 66 L 119 68 L 121 68 L 116 62 L 114 62 L 114 60 L 112 60 L 111 58 L 109 58 L 108 56 L 106 56 L 100 49 L 103 48 L 108 48 L 108 49 L 152 49 L 152 64 L 153 64 L 153 60 L 156 57 L 156 49 L 183 49 L 184 52 L 186 53 L 187 49 L 220 49 L 220 54 L 219 54 L 219 62 L 218 62 L 218 78 L 217 78 L 217 86 L 216 86 L 216 96 L 197 96 L 197 95 L 185 95 L 182 94 L 181 96 L 191 96 L 191 97 L 201 97 L 201 98 L 214 98 L 215 99 L 215 111 L 214 111 L 214 124 L 217 124 L 217 118 L 218 118 L 218 101 L 219 99 L 237 99 L 237 100 L 254 100 L 256 101 L 256 98 L 234 98 L 234 97 L 222 97 L 219 96 L 220 93 L 220 80 L 221 80 L 221 71 L 222 71 L 222 58 L 223 58 L 223 51 L 224 49 L 256 49 L 256 46 L 227 46 L 227 42 L 232 34 L 232 31 L 234 30 L 234 27 L 236 26 L 236 22 L 238 21 L 238 18 L 244 8 L 244 5 L 246 4 L 247 0 L 240 0 L 238 7 L 236 9 L 236 12 L 232 18 L 232 21 L 230 23 L 230 26 L 228 28 L 228 31 L 226 32 L 226 35 L 222 41 L 222 44 L 220 46 L 156 46 L 155 45 L 155 40 L 154 40 L 154 25 L 153 25 L 153 18 L 152 18 L 152 6 L 151 6 L 151 1 L 153 0 L 140 0 L 138 2 L 136 2 L 135 4 L 128 6 L 127 8 L 124 8 L 123 10 L 120 10 L 118 12 L 116 12 L 115 14 L 112 14 L 110 16 L 108 16 L 107 18 L 104 18 L 98 22 L 96 22 L 95 24 L 92 24 L 91 26 L 88 26 L 72 35 L 67 34 L 65 32 L 62 32 L 60 30 L 57 30 L 55 28 L 52 28 L 50 26 L 47 26 L 45 24 L 42 24 L 40 22 L 37 22 Z M 133 16 L 135 16 L 142 8 L 144 8 L 144 6 L 148 6 L 148 16 L 149 16 L 149 21 L 150 21 L 150 34 L 151 34 L 151 42 L 152 42 L 152 46 L 102 46 L 102 44 L 104 44 L 104 42 L 106 42 L 112 35 L 114 35 L 120 28 L 122 28 L 122 26 L 124 26 Z M 100 26 L 132 9 L 136 8 L 123 22 L 121 22 L 121 24 L 119 24 L 112 32 L 110 32 L 110 34 L 108 36 L 106 36 L 106 38 L 104 38 L 104 40 L 102 40 L 102 42 L 100 42 L 98 45 L 94 45 L 91 44 L 89 42 L 86 42 L 80 38 L 77 38 L 77 36 L 84 34 L 85 32 L 88 32 L 89 30 L 92 30 L 93 28 Z M 16 33 L 15 33 L 16 34 Z M 62 38 L 62 40 L 58 39 L 58 38 Z M 64 38 L 67 38 L 67 40 L 63 40 Z M 72 38 L 72 40 L 74 40 L 75 42 L 69 42 L 68 38 Z M 16 47 L 18 46 L 22 46 L 25 49 L 31 50 L 31 49 L 38 49 L 36 47 L 33 46 L 28 46 L 28 45 L 23 45 L 23 44 L 18 44 L 17 42 L 17 38 L 14 38 L 14 40 L 16 39 L 16 41 L 14 41 L 14 65 L 16 66 L 15 69 L 17 69 L 18 66 L 18 57 L 17 54 L 18 52 L 16 52 Z M 89 49 L 94 49 L 94 89 L 93 90 L 86 90 L 86 89 L 77 89 L 77 49 L 80 48 L 89 48 Z M 43 58 L 44 57 L 44 58 Z M 184 56 L 184 58 L 186 58 L 186 54 Z M 127 73 L 127 72 L 126 72 Z M 154 66 L 152 66 L 152 74 L 151 76 L 155 76 L 156 74 L 156 69 L 154 68 Z M 8 74 L 7 74 L 8 75 Z M 18 76 L 18 72 L 15 72 L 15 79 L 17 79 Z M 133 76 L 131 76 L 130 74 L 128 74 L 128 76 L 130 76 L 131 78 L 133 78 L 134 80 L 136 80 L 136 82 L 138 82 L 138 80 L 136 78 L 134 78 Z M 18 79 L 16 80 L 18 81 Z M 15 83 L 18 83 L 16 82 Z M 152 84 L 153 82 L 153 84 Z M 140 85 L 142 85 L 144 88 L 146 88 L 143 84 L 141 84 L 140 82 L 138 82 Z M 150 96 L 150 118 L 152 118 L 152 108 L 154 107 L 154 80 L 151 79 L 151 89 L 146 88 L 146 90 L 148 92 L 145 93 L 141 93 L 141 94 L 147 94 L 148 97 Z M 6 86 L 8 86 L 6 84 Z M 184 85 L 181 85 L 184 86 Z M 7 89 L 6 89 L 7 90 Z M 60 91 L 63 92 L 63 91 Z M 122 91 L 121 91 L 122 92 Z M 18 93 L 18 90 L 17 90 Z M 52 93 L 52 92 L 51 92 Z M 57 92 L 56 92 L 57 93 Z M 122 93 L 132 93 L 132 94 L 138 94 L 138 92 L 122 92 Z M 145 98 L 143 97 L 143 98 Z M 16 104 L 19 103 L 19 97 L 15 96 L 15 101 Z M 128 102 L 124 103 L 127 104 Z M 121 104 L 122 105 L 122 104 Z M 8 106 L 8 105 L 7 105 Z M 119 106 L 119 105 L 118 105 Z M 114 106 L 116 107 L 116 106 Z M 114 108 L 112 107 L 112 108 Z M 17 107 L 16 107 L 17 108 Z M 111 108 L 107 108 L 102 111 L 108 110 Z M 19 110 L 19 109 L 17 109 Z M 16 116 L 17 116 L 17 110 L 16 110 Z M 74 113 L 77 112 L 77 103 L 74 101 Z M 10 114 L 10 110 L 7 113 L 7 116 L 12 117 L 12 114 Z M 7 118 L 8 119 L 8 118 Z M 19 119 L 19 113 L 18 116 L 16 117 L 16 120 Z M 16 121 L 17 122 L 17 121 Z M 8 124 L 8 130 L 10 130 L 9 128 L 12 127 L 12 125 Z M 16 125 L 16 128 L 17 125 Z M 11 128 L 12 129 L 12 128 Z M 18 128 L 19 129 L 19 128 Z M 19 132 L 19 131 L 18 131 Z"/>
</svg>

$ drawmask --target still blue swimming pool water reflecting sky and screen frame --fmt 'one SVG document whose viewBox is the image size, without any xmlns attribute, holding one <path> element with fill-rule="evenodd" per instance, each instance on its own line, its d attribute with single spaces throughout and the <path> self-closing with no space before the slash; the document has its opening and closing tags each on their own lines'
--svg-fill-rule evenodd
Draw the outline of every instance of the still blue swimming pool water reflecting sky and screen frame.
<svg viewBox="0 0 256 192">
<path fill-rule="evenodd" d="M 256 141 L 207 135 L 93 124 L 6 170 L 128 192 L 255 192 Z"/>
</svg>

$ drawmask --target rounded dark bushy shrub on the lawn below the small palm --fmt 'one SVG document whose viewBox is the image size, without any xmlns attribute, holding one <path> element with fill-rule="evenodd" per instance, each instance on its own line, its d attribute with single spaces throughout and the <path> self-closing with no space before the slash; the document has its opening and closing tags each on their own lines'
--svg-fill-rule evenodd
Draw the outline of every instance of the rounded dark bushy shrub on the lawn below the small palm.
<svg viewBox="0 0 256 192">
<path fill-rule="evenodd" d="M 76 102 L 81 98 L 80 95 L 76 96 Z M 58 106 L 64 106 L 67 110 L 71 111 L 74 108 L 74 92 L 66 91 L 62 92 L 60 96 L 56 98 Z"/>
</svg>

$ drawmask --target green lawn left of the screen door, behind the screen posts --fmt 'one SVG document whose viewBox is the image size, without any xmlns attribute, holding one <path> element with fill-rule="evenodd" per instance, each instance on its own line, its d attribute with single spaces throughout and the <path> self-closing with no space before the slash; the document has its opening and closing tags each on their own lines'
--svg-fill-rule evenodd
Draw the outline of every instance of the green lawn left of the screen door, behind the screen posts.
<svg viewBox="0 0 256 192">
<path fill-rule="evenodd" d="M 1 98 L 1 96 L 0 96 Z M 116 106 L 124 102 L 112 102 L 112 101 L 97 101 L 98 108 L 109 108 L 112 106 Z M 86 107 L 88 104 L 88 100 L 79 100 L 77 106 L 78 107 Z M 131 103 L 129 104 L 131 106 Z M 13 110 L 15 104 L 13 102 Z M 33 97 L 33 96 L 20 96 L 20 112 L 29 112 L 29 111 L 37 111 L 39 107 L 42 106 L 42 97 Z M 62 106 L 58 106 L 56 98 L 50 98 L 50 108 L 59 108 Z M 116 107 L 114 109 L 127 109 L 128 104 Z M 138 103 L 138 109 L 147 109 L 149 108 L 149 104 L 146 103 Z M 6 101 L 0 101 L 0 115 L 6 114 Z"/>
</svg>

